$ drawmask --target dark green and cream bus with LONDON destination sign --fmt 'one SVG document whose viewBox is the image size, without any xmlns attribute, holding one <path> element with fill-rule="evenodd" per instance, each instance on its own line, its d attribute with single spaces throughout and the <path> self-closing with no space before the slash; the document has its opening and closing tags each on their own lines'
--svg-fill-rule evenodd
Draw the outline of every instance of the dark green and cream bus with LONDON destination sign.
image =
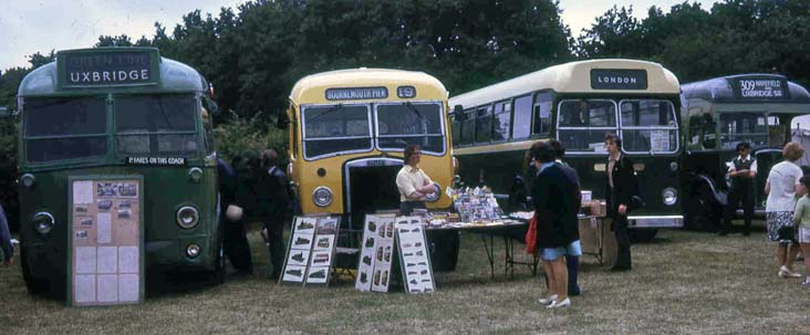
<svg viewBox="0 0 810 335">
<path fill-rule="evenodd" d="M 506 198 L 526 174 L 531 144 L 558 138 L 582 189 L 604 199 L 604 136 L 614 133 L 646 202 L 630 227 L 638 240 L 652 239 L 657 228 L 683 227 L 679 93 L 677 77 L 660 64 L 616 59 L 560 64 L 450 97 L 459 176 Z"/>
</svg>

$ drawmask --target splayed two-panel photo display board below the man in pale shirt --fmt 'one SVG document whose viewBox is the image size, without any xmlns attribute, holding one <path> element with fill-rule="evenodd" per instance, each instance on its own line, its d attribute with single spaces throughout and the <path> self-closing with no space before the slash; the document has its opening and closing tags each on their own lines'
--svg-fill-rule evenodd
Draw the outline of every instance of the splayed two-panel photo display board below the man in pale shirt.
<svg viewBox="0 0 810 335">
<path fill-rule="evenodd" d="M 394 252 L 407 293 L 436 291 L 420 217 L 366 216 L 355 289 L 388 292 Z"/>
</svg>

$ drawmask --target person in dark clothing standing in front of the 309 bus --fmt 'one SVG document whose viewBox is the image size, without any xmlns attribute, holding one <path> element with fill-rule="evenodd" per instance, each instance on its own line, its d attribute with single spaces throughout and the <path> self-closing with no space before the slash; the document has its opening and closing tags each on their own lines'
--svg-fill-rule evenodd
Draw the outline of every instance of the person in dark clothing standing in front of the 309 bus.
<svg viewBox="0 0 810 335">
<path fill-rule="evenodd" d="M 751 218 L 754 217 L 754 178 L 757 177 L 757 160 L 751 158 L 751 146 L 747 142 L 737 144 L 737 156 L 728 167 L 728 177 L 731 178 L 731 188 L 728 191 L 728 203 L 723 216 L 723 227 L 718 235 L 728 234 L 731 229 L 731 219 L 737 212 L 737 206 L 742 202 L 744 235 L 750 234 Z"/>
</svg>

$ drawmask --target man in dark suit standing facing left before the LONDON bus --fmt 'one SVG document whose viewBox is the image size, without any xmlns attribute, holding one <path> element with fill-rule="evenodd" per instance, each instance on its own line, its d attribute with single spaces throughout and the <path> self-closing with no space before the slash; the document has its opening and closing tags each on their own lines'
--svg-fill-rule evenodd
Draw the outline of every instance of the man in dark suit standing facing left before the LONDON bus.
<svg viewBox="0 0 810 335">
<path fill-rule="evenodd" d="M 608 198 L 608 217 L 613 220 L 613 233 L 616 237 L 619 252 L 612 271 L 627 271 L 633 268 L 630 253 L 630 235 L 627 234 L 627 212 L 632 209 L 632 198 L 638 190 L 633 161 L 622 155 L 622 139 L 608 133 L 604 138 L 608 149 L 608 180 L 605 198 Z"/>
</svg>

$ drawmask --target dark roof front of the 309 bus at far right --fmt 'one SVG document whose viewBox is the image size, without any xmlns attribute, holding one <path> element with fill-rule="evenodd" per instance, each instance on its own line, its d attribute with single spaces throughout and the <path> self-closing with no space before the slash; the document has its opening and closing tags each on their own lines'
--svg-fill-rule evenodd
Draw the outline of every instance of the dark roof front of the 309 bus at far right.
<svg viewBox="0 0 810 335">
<path fill-rule="evenodd" d="M 762 94 L 742 96 L 739 84 L 741 81 L 761 81 L 764 84 L 771 82 L 772 87 L 759 85 L 759 91 L 783 91 L 779 97 L 767 97 Z M 786 90 L 787 87 L 787 90 Z M 684 84 L 684 98 L 703 98 L 712 102 L 725 103 L 808 103 L 810 94 L 801 85 L 788 81 L 783 75 L 767 73 L 736 74 L 715 77 L 700 82 Z M 768 88 L 768 90 L 766 90 Z"/>
</svg>

